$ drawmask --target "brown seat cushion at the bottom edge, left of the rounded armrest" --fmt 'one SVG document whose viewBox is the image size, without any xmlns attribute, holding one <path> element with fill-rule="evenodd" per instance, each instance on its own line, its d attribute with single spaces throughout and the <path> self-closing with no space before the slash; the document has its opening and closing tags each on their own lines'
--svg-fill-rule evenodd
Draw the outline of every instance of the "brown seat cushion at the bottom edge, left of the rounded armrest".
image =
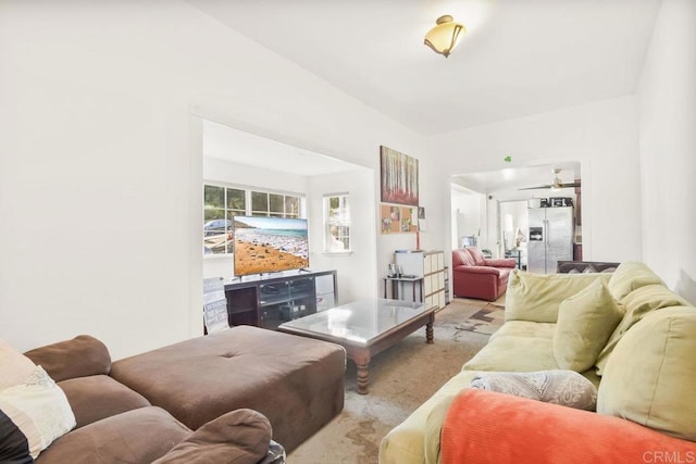
<svg viewBox="0 0 696 464">
<path fill-rule="evenodd" d="M 71 431 L 39 454 L 37 464 L 150 464 L 191 434 L 166 411 L 140 407 Z"/>
</svg>

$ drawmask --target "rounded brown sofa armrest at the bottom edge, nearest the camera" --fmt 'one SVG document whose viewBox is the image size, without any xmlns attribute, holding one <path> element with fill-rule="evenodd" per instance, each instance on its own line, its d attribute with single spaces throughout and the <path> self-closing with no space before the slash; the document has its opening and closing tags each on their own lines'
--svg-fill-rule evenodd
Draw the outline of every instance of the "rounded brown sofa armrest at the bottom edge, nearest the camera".
<svg viewBox="0 0 696 464">
<path fill-rule="evenodd" d="M 207 423 L 153 464 L 256 464 L 266 455 L 271 435 L 265 416 L 236 410 Z"/>
</svg>

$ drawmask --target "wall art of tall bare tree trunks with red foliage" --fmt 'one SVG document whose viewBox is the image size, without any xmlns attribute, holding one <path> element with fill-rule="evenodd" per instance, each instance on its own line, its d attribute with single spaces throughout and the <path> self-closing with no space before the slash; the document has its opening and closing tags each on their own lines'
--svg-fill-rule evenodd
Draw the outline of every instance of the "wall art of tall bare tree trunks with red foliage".
<svg viewBox="0 0 696 464">
<path fill-rule="evenodd" d="M 382 201 L 418 206 L 418 160 L 380 147 Z"/>
</svg>

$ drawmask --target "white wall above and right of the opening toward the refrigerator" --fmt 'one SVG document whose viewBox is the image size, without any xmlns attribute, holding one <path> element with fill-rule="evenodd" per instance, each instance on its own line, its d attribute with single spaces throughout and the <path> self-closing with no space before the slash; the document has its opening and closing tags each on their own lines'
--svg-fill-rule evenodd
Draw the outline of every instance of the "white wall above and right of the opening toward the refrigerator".
<svg viewBox="0 0 696 464">
<path fill-rule="evenodd" d="M 642 259 L 636 134 L 636 102 L 625 97 L 455 131 L 434 138 L 432 149 L 443 179 L 514 163 L 581 162 L 583 258 L 626 261 Z"/>
</svg>

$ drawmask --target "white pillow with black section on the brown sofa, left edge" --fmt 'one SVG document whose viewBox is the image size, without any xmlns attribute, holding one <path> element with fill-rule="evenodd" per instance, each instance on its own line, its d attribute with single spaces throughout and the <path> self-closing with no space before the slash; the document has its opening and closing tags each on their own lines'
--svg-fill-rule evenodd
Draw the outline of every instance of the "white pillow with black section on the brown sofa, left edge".
<svg viewBox="0 0 696 464">
<path fill-rule="evenodd" d="M 0 390 L 0 462 L 36 459 L 73 427 L 65 393 L 41 366 L 23 384 Z"/>
</svg>

